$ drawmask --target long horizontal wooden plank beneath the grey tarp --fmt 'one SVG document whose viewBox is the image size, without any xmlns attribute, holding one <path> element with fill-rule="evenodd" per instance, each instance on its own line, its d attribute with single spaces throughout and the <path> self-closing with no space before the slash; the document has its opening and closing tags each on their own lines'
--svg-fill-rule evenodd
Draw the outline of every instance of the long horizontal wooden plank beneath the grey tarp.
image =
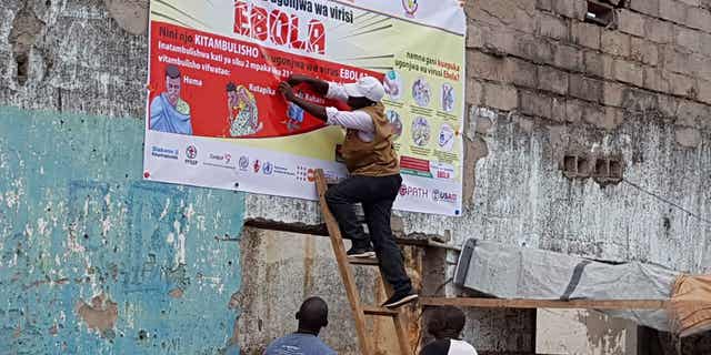
<svg viewBox="0 0 711 355">
<path fill-rule="evenodd" d="M 581 310 L 664 310 L 668 301 L 657 300 L 501 300 L 473 297 L 421 297 L 424 306 L 478 308 L 581 308 Z"/>
</svg>

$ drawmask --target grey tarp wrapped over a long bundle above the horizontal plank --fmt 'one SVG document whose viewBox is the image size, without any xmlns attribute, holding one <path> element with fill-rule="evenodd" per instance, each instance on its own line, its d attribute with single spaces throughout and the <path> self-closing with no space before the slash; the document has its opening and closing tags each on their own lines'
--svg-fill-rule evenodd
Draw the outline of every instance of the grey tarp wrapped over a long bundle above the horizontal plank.
<svg viewBox="0 0 711 355">
<path fill-rule="evenodd" d="M 469 240 L 454 283 L 499 298 L 669 301 L 679 275 L 660 266 L 612 265 L 549 251 Z M 669 332 L 665 310 L 614 311 L 609 315 Z"/>
</svg>

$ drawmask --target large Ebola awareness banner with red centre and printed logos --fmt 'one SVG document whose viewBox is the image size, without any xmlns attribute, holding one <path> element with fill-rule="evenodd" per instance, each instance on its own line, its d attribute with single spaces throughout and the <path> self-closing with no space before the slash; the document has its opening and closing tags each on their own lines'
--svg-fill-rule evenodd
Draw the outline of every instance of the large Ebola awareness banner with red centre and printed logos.
<svg viewBox="0 0 711 355">
<path fill-rule="evenodd" d="M 146 180 L 316 200 L 344 130 L 288 104 L 289 75 L 375 77 L 403 184 L 394 207 L 461 214 L 465 18 L 458 0 L 151 0 Z M 298 95 L 348 110 L 310 91 Z"/>
</svg>

